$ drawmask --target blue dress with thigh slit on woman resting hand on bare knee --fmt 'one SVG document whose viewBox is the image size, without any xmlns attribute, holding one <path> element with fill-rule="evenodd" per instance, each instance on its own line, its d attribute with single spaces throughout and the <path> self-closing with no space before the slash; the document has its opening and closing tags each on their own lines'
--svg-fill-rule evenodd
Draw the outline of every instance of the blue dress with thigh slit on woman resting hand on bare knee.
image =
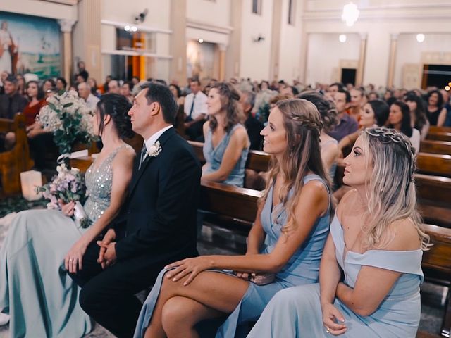
<svg viewBox="0 0 451 338">
<path fill-rule="evenodd" d="M 318 175 L 307 175 L 304 177 L 304 184 L 311 180 L 323 182 Z M 324 182 L 323 182 L 324 183 Z M 330 208 L 330 206 L 329 206 Z M 276 220 L 276 222 L 274 221 Z M 264 249 L 261 253 L 270 253 L 278 242 L 283 225 L 287 221 L 285 208 L 278 204 L 273 209 L 273 187 L 269 190 L 268 197 L 261 211 L 261 225 L 266 232 Z M 299 222 L 302 226 L 302 220 Z M 216 337 L 241 336 L 247 328 L 247 322 L 257 320 L 264 307 L 271 298 L 281 289 L 294 287 L 296 285 L 311 284 L 318 282 L 319 263 L 323 254 L 324 244 L 329 232 L 330 213 L 329 210 L 316 223 L 305 240 L 304 244 L 290 258 L 285 267 L 276 274 L 276 280 L 264 286 L 249 283 L 249 288 L 242 300 L 231 313 L 226 322 L 219 328 Z M 135 338 L 144 336 L 144 332 L 149 325 L 149 321 L 154 311 L 156 299 L 161 288 L 161 279 L 166 270 L 161 271 L 152 292 L 144 302 L 140 313 L 140 318 L 135 330 Z M 241 325 L 243 324 L 243 325 Z M 240 325 L 240 327 L 238 327 Z M 246 332 L 247 333 L 247 332 Z M 211 337 L 211 336 L 210 336 Z"/>
</svg>

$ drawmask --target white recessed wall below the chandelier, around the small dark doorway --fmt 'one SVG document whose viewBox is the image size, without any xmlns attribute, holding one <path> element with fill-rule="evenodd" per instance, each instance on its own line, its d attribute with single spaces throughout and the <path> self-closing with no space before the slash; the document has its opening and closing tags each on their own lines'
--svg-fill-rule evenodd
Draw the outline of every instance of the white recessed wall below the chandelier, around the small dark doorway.
<svg viewBox="0 0 451 338">
<path fill-rule="evenodd" d="M 359 59 L 359 35 L 346 36 L 347 41 L 342 43 L 338 40 L 338 34 L 309 34 L 306 84 L 315 82 L 330 84 L 334 81 L 333 69 L 340 66 L 340 60 Z"/>
</svg>

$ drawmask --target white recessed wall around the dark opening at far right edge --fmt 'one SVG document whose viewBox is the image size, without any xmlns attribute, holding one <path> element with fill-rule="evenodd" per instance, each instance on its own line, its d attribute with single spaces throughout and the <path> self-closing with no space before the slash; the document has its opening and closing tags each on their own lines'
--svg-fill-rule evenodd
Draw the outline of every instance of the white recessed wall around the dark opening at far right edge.
<svg viewBox="0 0 451 338">
<path fill-rule="evenodd" d="M 402 68 L 407 63 L 422 65 L 421 53 L 451 53 L 451 34 L 426 34 L 424 42 L 416 41 L 416 34 L 402 34 L 397 39 L 396 67 L 393 84 L 402 87 Z M 422 68 L 422 67 L 421 67 Z M 451 80 L 451 77 L 450 77 Z"/>
</svg>

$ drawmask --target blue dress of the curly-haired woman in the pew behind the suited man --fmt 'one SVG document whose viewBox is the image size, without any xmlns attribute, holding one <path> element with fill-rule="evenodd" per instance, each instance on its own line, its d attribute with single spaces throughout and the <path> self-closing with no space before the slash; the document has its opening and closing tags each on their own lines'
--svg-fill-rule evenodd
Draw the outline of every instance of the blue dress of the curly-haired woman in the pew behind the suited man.
<svg viewBox="0 0 451 338">
<path fill-rule="evenodd" d="M 209 128 L 206 133 L 205 143 L 204 143 L 204 158 L 208 166 L 204 169 L 203 174 L 214 173 L 221 167 L 221 163 L 223 161 L 224 152 L 227 149 L 228 143 L 230 142 L 230 137 L 232 137 L 233 132 L 238 127 L 244 128 L 243 125 L 237 124 L 232 127 L 232 129 L 224 135 L 223 139 L 218 143 L 216 148 L 213 147 L 213 143 L 211 142 L 212 132 Z M 250 142 L 249 142 L 250 146 Z M 237 161 L 237 164 L 230 172 L 227 177 L 227 180 L 221 182 L 225 184 L 235 185 L 236 187 L 242 187 L 245 182 L 245 165 L 247 160 L 247 154 L 249 154 L 249 146 L 246 149 L 243 149 L 241 152 L 241 156 Z"/>
</svg>

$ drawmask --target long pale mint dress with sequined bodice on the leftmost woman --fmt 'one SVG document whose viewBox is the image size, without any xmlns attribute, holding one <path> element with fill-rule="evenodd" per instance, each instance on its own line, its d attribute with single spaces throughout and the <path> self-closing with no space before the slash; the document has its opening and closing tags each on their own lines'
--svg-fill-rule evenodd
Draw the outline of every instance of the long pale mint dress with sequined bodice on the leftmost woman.
<svg viewBox="0 0 451 338">
<path fill-rule="evenodd" d="M 97 220 L 110 204 L 111 163 L 124 146 L 97 170 L 94 163 L 86 172 L 89 196 L 84 208 L 90 220 Z M 86 230 L 61 211 L 28 210 L 14 218 L 0 250 L 0 309 L 11 315 L 11 337 L 76 338 L 92 330 L 78 303 L 80 289 L 63 262 Z"/>
</svg>

